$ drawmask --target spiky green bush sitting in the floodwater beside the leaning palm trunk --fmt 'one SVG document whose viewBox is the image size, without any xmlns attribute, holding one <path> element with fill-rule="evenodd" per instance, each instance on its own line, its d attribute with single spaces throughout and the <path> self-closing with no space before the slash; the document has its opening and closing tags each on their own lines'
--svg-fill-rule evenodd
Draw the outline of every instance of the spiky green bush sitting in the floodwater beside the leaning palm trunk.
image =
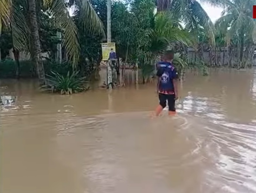
<svg viewBox="0 0 256 193">
<path fill-rule="evenodd" d="M 51 89 L 52 92 L 59 92 L 61 95 L 70 95 L 72 93 L 83 92 L 89 88 L 85 87 L 87 81 L 86 77 L 79 77 L 79 71 L 67 72 L 66 76 L 63 76 L 57 72 L 51 72 L 52 75 L 46 75 L 48 84 L 42 86 L 42 89 Z"/>
</svg>

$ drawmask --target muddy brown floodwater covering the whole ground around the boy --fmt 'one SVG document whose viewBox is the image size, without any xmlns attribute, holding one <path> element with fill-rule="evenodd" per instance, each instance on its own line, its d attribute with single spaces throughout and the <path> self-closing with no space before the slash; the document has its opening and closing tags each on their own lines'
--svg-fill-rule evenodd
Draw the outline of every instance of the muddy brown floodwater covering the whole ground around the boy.
<svg viewBox="0 0 256 193">
<path fill-rule="evenodd" d="M 153 84 L 42 94 L 2 80 L 1 193 L 255 193 L 256 71 L 187 73 L 178 115 Z"/>
</svg>

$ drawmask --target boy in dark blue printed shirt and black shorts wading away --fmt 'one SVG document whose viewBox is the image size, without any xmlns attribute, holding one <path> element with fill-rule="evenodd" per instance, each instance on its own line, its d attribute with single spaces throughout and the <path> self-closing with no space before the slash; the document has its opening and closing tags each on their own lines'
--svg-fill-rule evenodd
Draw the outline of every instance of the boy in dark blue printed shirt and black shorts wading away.
<svg viewBox="0 0 256 193">
<path fill-rule="evenodd" d="M 178 99 L 178 73 L 172 64 L 173 57 L 174 52 L 167 50 L 163 56 L 163 61 L 157 65 L 159 105 L 155 110 L 156 116 L 166 107 L 166 101 L 168 101 L 169 106 L 168 114 L 176 114 L 175 100 Z"/>
</svg>

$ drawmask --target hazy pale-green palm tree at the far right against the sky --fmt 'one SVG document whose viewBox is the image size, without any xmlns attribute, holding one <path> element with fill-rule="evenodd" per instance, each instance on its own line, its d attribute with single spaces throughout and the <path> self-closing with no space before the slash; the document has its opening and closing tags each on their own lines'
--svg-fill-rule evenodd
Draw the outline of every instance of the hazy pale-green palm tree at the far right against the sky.
<svg viewBox="0 0 256 193">
<path fill-rule="evenodd" d="M 233 43 L 239 47 L 239 65 L 244 61 L 245 51 L 250 50 L 248 54 L 252 54 L 256 43 L 256 22 L 252 19 L 252 6 L 255 4 L 256 0 L 225 0 L 222 17 L 215 23 L 218 32 L 225 36 L 227 45 Z"/>
</svg>

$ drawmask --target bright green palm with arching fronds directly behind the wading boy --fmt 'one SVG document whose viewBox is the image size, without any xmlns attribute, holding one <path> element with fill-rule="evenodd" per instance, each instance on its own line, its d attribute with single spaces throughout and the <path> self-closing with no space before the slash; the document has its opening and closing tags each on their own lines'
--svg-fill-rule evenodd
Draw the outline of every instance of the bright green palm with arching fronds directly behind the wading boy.
<svg viewBox="0 0 256 193">
<path fill-rule="evenodd" d="M 168 47 L 174 45 L 191 44 L 189 33 L 182 28 L 180 21 L 175 19 L 169 12 L 158 12 L 153 16 L 154 22 L 149 30 L 149 47 L 143 50 L 145 54 L 139 58 L 139 64 L 142 71 L 143 82 L 153 73 L 155 60 Z M 139 51 L 141 52 L 141 51 Z M 180 72 L 187 66 L 180 53 L 175 54 L 174 64 Z"/>
</svg>

